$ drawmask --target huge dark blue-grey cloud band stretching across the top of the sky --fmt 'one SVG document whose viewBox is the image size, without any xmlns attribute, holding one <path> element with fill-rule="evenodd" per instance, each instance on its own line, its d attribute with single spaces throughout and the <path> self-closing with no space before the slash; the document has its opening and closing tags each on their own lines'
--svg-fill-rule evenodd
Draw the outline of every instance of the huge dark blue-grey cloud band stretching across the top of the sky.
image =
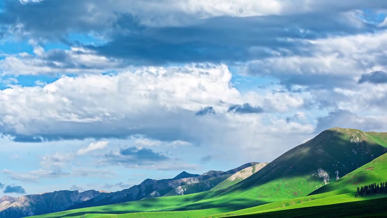
<svg viewBox="0 0 387 218">
<path fill-rule="evenodd" d="M 316 7 L 319 4 L 319 8 Z M 15 33 L 25 31 L 35 38 L 56 39 L 63 43 L 70 43 L 66 40 L 70 33 L 87 35 L 93 32 L 106 38 L 107 42 L 85 45 L 87 48 L 107 57 L 130 60 L 132 64 L 235 62 L 279 54 L 309 55 L 308 48 L 313 45 L 304 42 L 304 39 L 372 32 L 375 26 L 354 24 L 354 17 L 341 12 L 354 6 L 382 7 L 385 3 L 357 2 L 343 4 L 336 10 L 328 10 L 326 5 L 316 2 L 313 6 L 315 11 L 310 13 L 288 13 L 281 16 L 198 19 L 175 12 L 168 16 L 180 17 L 180 20 L 189 19 L 190 22 L 186 25 L 168 26 L 143 24 L 149 17 L 141 16 L 153 16 L 149 12 L 147 15 L 136 15 L 133 14 L 134 11 L 125 11 L 127 7 L 144 7 L 136 2 L 45 0 L 21 3 L 7 0 L 0 13 L 0 25 L 11 26 Z M 162 16 L 154 17 L 153 20 L 160 22 L 168 20 L 162 19 Z M 358 22 L 361 22 L 360 19 Z M 16 24 L 22 24 L 22 29 L 17 28 Z M 51 54 L 49 59 L 64 60 L 67 56 L 57 53 Z M 68 65 L 75 67 L 70 61 Z"/>
</svg>

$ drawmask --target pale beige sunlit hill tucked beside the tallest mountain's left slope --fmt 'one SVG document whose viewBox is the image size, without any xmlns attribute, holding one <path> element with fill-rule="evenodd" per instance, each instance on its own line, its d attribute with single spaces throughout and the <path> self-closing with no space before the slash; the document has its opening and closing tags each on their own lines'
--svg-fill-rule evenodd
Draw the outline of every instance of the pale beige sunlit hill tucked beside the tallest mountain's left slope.
<svg viewBox="0 0 387 218">
<path fill-rule="evenodd" d="M 229 176 L 226 180 L 222 181 L 221 183 L 217 184 L 212 189 L 225 189 L 227 187 L 230 187 L 231 185 L 235 185 L 238 182 L 241 182 L 245 178 L 248 178 L 249 176 L 253 175 L 254 173 L 258 172 L 264 166 L 266 166 L 268 163 L 258 163 L 254 166 L 249 166 L 241 171 L 238 171 L 234 173 L 233 175 Z"/>
</svg>

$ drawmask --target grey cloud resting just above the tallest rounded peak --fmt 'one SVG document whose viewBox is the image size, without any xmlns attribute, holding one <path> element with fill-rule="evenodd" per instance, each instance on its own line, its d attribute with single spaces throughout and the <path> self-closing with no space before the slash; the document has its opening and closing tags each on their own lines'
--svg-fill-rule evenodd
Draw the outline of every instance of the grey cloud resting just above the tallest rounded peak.
<svg viewBox="0 0 387 218">
<path fill-rule="evenodd" d="M 383 129 L 383 122 L 374 117 L 361 117 L 348 110 L 336 110 L 328 113 L 328 116 L 317 119 L 315 133 L 339 127 L 352 128 L 362 131 L 380 131 Z"/>
</svg>

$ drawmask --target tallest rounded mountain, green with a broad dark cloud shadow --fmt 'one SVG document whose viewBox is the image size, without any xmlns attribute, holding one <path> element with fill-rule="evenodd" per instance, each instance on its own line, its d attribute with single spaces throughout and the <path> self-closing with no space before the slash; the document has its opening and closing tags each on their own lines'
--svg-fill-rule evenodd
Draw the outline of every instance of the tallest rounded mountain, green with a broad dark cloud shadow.
<svg viewBox="0 0 387 218">
<path fill-rule="evenodd" d="M 277 201 L 314 190 L 387 152 L 387 133 L 332 128 L 285 152 L 224 193 Z"/>
</svg>

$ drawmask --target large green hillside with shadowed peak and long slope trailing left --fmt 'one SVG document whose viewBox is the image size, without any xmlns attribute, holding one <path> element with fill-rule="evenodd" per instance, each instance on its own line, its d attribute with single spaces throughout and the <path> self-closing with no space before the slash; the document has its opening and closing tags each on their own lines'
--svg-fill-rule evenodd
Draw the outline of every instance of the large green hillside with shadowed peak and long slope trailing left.
<svg viewBox="0 0 387 218">
<path fill-rule="evenodd" d="M 303 196 L 311 198 L 305 196 L 384 154 L 386 138 L 387 133 L 333 128 L 289 150 L 257 173 L 226 189 L 65 211 L 50 217 L 79 215 L 87 211 L 134 213 L 219 207 L 235 211 L 277 201 L 302 199 Z"/>
</svg>

